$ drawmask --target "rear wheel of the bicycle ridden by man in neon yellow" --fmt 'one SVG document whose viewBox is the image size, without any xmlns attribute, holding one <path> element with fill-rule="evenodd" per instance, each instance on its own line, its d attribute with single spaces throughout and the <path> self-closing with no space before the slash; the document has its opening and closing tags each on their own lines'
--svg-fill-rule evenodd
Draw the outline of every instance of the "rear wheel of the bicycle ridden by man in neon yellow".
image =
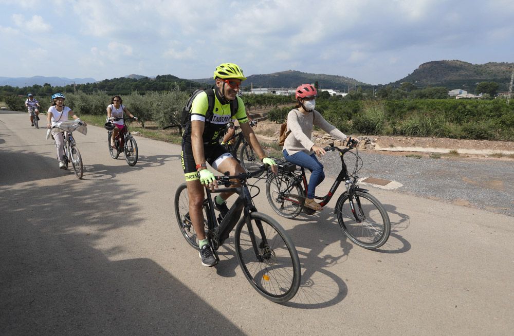
<svg viewBox="0 0 514 336">
<path fill-rule="evenodd" d="M 208 225 L 206 218 L 209 213 L 209 209 L 206 202 L 204 202 L 203 210 L 205 229 L 207 230 Z M 191 223 L 191 218 L 189 218 L 189 194 L 186 183 L 180 184 L 175 192 L 175 215 L 177 218 L 178 228 L 184 238 L 186 238 L 188 244 L 193 248 L 198 249 L 198 237 L 196 236 L 193 224 Z"/>
</svg>

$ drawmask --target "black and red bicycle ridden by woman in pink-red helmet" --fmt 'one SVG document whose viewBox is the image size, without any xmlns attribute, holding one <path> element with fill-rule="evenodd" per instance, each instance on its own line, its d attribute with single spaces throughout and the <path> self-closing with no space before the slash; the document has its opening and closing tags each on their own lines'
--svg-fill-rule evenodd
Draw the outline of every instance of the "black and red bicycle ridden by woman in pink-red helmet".
<svg viewBox="0 0 514 336">
<path fill-rule="evenodd" d="M 357 172 L 362 168 L 362 159 L 359 156 L 357 142 L 348 139 L 347 148 L 338 148 L 334 144 L 323 148 L 325 152 L 338 151 L 341 159 L 341 171 L 332 184 L 328 193 L 320 199 L 321 206 L 325 206 L 335 195 L 341 182 L 346 190 L 339 196 L 334 212 L 337 214 L 339 226 L 344 234 L 355 244 L 366 249 L 376 249 L 385 244 L 391 231 L 389 215 L 368 190 L 357 185 Z M 355 151 L 352 151 L 354 150 Z M 344 155 L 351 153 L 355 156 L 355 166 L 351 174 L 348 173 Z M 270 175 L 266 180 L 266 198 L 271 208 L 285 218 L 294 218 L 300 212 L 312 215 L 316 210 L 304 206 L 307 195 L 307 178 L 305 170 L 284 160 L 277 160 L 279 173 Z"/>
</svg>

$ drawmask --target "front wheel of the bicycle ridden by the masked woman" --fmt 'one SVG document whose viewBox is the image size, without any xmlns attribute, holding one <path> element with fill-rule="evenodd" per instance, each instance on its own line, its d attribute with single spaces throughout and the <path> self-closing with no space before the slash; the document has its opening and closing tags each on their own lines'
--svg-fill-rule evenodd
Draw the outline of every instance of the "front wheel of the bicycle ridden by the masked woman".
<svg viewBox="0 0 514 336">
<path fill-rule="evenodd" d="M 354 191 L 352 212 L 348 193 L 342 194 L 336 203 L 337 221 L 344 234 L 365 249 L 381 247 L 389 239 L 391 221 L 380 201 L 367 192 Z M 355 218 L 359 217 L 359 221 Z"/>
</svg>

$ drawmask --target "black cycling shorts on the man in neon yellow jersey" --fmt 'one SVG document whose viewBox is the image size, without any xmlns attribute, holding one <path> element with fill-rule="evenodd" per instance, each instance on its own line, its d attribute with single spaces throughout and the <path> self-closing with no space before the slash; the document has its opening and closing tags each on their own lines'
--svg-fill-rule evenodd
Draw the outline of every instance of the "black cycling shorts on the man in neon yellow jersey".
<svg viewBox="0 0 514 336">
<path fill-rule="evenodd" d="M 232 154 L 227 153 L 227 148 L 219 143 L 204 145 L 204 155 L 207 163 L 209 163 L 215 170 L 218 165 L 226 158 L 231 158 Z M 182 153 L 180 154 L 180 161 L 182 162 L 182 170 L 186 177 L 186 181 L 198 180 L 200 175 L 196 170 L 196 162 L 193 156 L 193 147 L 191 142 L 182 139 Z"/>
</svg>

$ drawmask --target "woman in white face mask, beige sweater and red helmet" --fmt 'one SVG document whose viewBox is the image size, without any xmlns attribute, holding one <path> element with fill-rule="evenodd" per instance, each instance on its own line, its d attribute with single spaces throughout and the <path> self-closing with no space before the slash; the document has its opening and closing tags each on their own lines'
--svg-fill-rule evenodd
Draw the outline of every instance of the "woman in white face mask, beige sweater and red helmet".
<svg viewBox="0 0 514 336">
<path fill-rule="evenodd" d="M 287 115 L 287 131 L 290 131 L 290 133 L 284 141 L 282 154 L 287 161 L 300 165 L 311 172 L 305 206 L 314 210 L 322 210 L 320 204 L 314 201 L 316 186 L 325 178 L 323 165 L 318 161 L 316 155 L 321 157 L 325 154 L 325 151 L 310 140 L 313 126 L 318 126 L 326 133 L 342 141 L 346 139 L 346 135 L 329 124 L 314 109 L 316 107 L 316 97 L 318 97 L 318 91 L 313 85 L 302 84 L 296 89 L 298 104 Z"/>
</svg>

